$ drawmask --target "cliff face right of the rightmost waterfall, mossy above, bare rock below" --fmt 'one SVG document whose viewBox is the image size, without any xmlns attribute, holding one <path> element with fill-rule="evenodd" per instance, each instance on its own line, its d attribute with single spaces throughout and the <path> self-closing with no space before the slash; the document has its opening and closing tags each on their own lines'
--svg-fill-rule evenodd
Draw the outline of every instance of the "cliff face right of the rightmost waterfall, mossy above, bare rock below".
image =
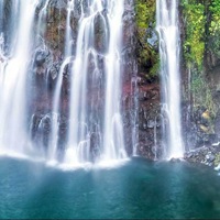
<svg viewBox="0 0 220 220">
<path fill-rule="evenodd" d="M 193 0 L 184 1 L 179 7 L 183 25 L 183 128 L 185 143 L 190 151 L 186 158 L 209 165 L 217 164 L 219 154 L 218 8 L 219 3 L 215 0 L 199 4 Z"/>
</svg>

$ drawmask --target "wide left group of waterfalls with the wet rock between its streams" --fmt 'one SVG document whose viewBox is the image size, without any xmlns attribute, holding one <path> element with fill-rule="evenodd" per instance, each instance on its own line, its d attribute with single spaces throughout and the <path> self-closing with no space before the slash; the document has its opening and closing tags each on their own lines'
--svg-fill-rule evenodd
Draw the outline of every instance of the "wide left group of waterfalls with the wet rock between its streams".
<svg viewBox="0 0 220 220">
<path fill-rule="evenodd" d="M 0 151 L 67 164 L 125 158 L 124 1 L 8 3 L 0 2 Z"/>
</svg>

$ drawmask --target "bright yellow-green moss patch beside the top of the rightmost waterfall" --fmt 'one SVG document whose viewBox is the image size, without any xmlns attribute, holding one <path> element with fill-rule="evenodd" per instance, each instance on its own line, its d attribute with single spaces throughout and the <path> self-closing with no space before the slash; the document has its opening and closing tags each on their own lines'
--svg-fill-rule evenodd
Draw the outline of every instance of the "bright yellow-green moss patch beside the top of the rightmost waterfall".
<svg viewBox="0 0 220 220">
<path fill-rule="evenodd" d="M 186 24 L 185 59 L 201 69 L 205 53 L 205 6 L 196 0 L 183 0 L 183 8 Z"/>
</svg>

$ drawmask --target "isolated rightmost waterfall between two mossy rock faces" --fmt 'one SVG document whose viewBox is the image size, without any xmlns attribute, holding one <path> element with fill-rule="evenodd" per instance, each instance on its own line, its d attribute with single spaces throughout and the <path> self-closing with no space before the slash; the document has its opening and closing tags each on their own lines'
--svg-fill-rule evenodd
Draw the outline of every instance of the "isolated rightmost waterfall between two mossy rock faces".
<svg viewBox="0 0 220 220">
<path fill-rule="evenodd" d="M 160 35 L 162 98 L 168 118 L 167 157 L 183 157 L 180 123 L 178 0 L 157 0 L 156 30 Z"/>
</svg>

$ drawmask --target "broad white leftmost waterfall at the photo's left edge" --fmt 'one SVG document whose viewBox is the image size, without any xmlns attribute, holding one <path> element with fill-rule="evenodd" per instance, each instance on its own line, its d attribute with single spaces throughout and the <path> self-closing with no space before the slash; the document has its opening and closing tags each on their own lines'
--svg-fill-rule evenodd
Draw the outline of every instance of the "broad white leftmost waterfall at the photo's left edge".
<svg viewBox="0 0 220 220">
<path fill-rule="evenodd" d="M 32 25 L 37 0 L 12 1 L 12 9 L 19 11 L 12 11 L 13 15 L 18 15 L 18 26 L 11 31 L 11 37 L 15 42 L 14 48 L 11 48 L 13 54 L 0 61 L 7 63 L 0 73 L 0 148 L 2 151 L 24 152 L 24 145 L 28 145 L 25 133 L 26 78 Z"/>
</svg>

